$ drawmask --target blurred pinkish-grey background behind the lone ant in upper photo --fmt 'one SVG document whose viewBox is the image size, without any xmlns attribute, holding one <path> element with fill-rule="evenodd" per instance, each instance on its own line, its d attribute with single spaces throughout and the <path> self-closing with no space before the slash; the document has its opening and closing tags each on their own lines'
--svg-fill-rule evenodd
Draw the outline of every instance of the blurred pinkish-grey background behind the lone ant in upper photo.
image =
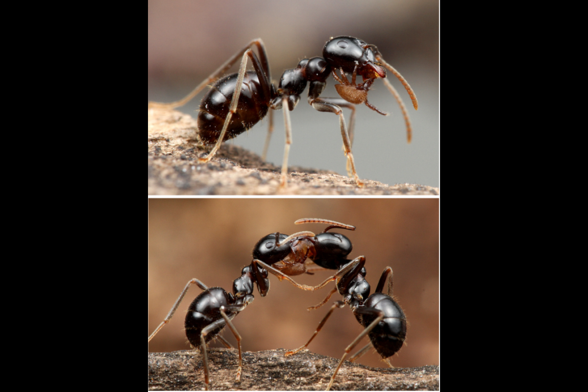
<svg viewBox="0 0 588 392">
<path fill-rule="evenodd" d="M 405 122 L 396 100 L 381 81 L 369 102 L 390 113 L 382 116 L 358 106 L 353 155 L 363 179 L 439 187 L 439 2 L 396 1 L 163 1 L 148 5 L 148 100 L 172 102 L 187 95 L 230 56 L 254 38 L 262 38 L 273 81 L 300 59 L 322 56 L 330 37 L 350 35 L 372 43 L 412 86 L 415 111 L 406 90 L 389 73 L 407 106 L 413 125 L 406 142 Z M 252 67 L 249 65 L 249 68 Z M 237 72 L 238 65 L 229 72 Z M 338 96 L 330 78 L 324 97 Z M 196 116 L 205 92 L 182 108 Z M 292 116 L 289 165 L 334 170 L 346 175 L 339 121 L 317 112 L 303 93 Z M 344 109 L 346 122 L 349 110 Z M 281 165 L 283 116 L 274 116 L 275 132 L 268 161 Z M 261 155 L 268 119 L 229 143 Z"/>
</svg>

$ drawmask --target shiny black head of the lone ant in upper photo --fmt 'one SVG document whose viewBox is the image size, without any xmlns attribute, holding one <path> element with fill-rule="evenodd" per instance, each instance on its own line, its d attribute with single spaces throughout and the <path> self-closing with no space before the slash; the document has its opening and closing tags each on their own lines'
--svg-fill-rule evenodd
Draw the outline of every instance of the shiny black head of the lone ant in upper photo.
<svg viewBox="0 0 588 392">
<path fill-rule="evenodd" d="M 325 44 L 323 57 L 332 68 L 343 68 L 343 71 L 350 73 L 357 62 L 356 72 L 362 75 L 364 80 L 386 78 L 386 70 L 376 61 L 372 48 L 375 47 L 361 39 L 343 35 L 331 38 Z"/>
</svg>

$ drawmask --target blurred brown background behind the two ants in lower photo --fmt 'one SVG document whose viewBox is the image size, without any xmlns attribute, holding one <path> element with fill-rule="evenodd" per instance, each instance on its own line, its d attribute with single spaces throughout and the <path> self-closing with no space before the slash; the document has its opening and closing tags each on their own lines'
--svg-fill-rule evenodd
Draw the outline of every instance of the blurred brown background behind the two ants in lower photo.
<svg viewBox="0 0 588 392">
<path fill-rule="evenodd" d="M 233 280 L 251 262 L 253 246 L 263 236 L 325 229 L 326 225 L 316 223 L 294 225 L 305 217 L 357 227 L 332 231 L 352 241 L 350 259 L 366 257 L 372 293 L 385 267 L 392 267 L 394 296 L 409 320 L 407 344 L 392 357 L 393 366 L 439 364 L 439 199 L 149 199 L 148 336 L 190 279 L 231 292 Z M 323 271 L 293 279 L 313 286 L 330 275 Z M 333 294 L 318 310 L 306 308 L 322 301 L 333 287 L 330 283 L 307 292 L 270 275 L 268 295 L 262 297 L 255 289 L 253 303 L 233 320 L 243 350 L 302 346 L 341 296 Z M 172 321 L 149 343 L 149 351 L 189 349 L 183 321 L 199 293 L 197 286 L 188 290 Z M 362 330 L 348 306 L 336 309 L 309 349 L 340 358 Z M 223 336 L 235 346 L 229 330 Z M 366 337 L 356 350 L 367 343 Z M 223 346 L 213 343 L 212 347 Z M 373 350 L 359 363 L 386 367 Z"/>
</svg>

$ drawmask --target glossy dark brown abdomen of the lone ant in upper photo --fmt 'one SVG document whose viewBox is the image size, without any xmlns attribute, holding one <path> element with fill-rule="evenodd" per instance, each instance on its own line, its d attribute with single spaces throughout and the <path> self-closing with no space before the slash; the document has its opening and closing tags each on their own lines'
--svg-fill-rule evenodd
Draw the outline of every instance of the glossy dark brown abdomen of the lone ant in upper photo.
<svg viewBox="0 0 588 392">
<path fill-rule="evenodd" d="M 198 134 L 205 144 L 216 143 L 229 113 L 238 74 L 219 79 L 202 98 L 198 112 Z M 264 118 L 268 113 L 267 100 L 255 71 L 245 72 L 237 111 L 230 119 L 223 142 L 235 138 Z"/>
</svg>

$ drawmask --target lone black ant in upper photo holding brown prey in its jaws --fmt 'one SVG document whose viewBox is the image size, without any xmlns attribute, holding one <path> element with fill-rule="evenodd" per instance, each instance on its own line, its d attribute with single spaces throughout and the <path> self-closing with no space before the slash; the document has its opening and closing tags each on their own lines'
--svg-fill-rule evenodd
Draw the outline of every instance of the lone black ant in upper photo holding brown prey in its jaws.
<svg viewBox="0 0 588 392">
<path fill-rule="evenodd" d="M 258 48 L 259 55 L 252 51 L 254 46 Z M 219 79 L 239 58 L 241 59 L 239 72 L 231 73 Z M 246 71 L 248 58 L 253 63 L 255 71 Z M 368 108 L 381 115 L 387 115 L 387 113 L 380 111 L 368 102 L 369 89 L 377 78 L 382 78 L 390 93 L 396 98 L 405 118 L 409 143 L 412 138 L 412 127 L 405 105 L 396 89 L 387 81 L 386 70 L 382 66 L 389 69 L 399 79 L 406 88 L 410 99 L 412 99 L 415 110 L 418 109 L 418 103 L 412 88 L 396 69 L 384 61 L 376 46 L 351 36 L 331 38 L 323 48 L 323 57 L 303 59 L 296 68 L 284 71 L 278 88 L 272 83 L 265 45 L 263 45 L 260 38 L 254 39 L 245 48 L 229 58 L 205 81 L 196 86 L 185 98 L 172 103 L 150 102 L 149 108 L 173 109 L 185 105 L 186 102 L 201 92 L 205 86 L 215 82 L 202 98 L 198 113 L 199 140 L 205 145 L 214 144 L 214 146 L 208 155 L 198 158 L 199 162 L 211 160 L 219 149 L 220 143 L 235 138 L 235 136 L 250 129 L 268 114 L 269 109 L 282 109 L 286 129 L 286 144 L 282 175 L 280 177 L 280 188 L 282 188 L 286 186 L 288 153 L 290 144 L 292 144 L 292 125 L 290 124 L 289 110 L 294 110 L 300 100 L 300 94 L 306 88 L 306 83 L 310 82 L 308 103 L 319 112 L 331 112 L 339 116 L 343 150 L 347 157 L 347 172 L 350 177 L 354 177 L 356 185 L 362 187 L 364 184 L 355 170 L 355 161 L 351 152 L 353 126 L 355 125 L 355 105 L 365 103 Z M 337 69 L 340 71 L 340 77 L 335 72 Z M 351 73 L 351 81 L 349 81 L 345 73 Z M 325 89 L 326 81 L 331 74 L 340 83 L 335 85 L 335 88 L 341 98 L 320 98 L 319 95 Z M 357 75 L 362 76 L 362 83 L 356 83 Z M 349 120 L 349 133 L 345 125 L 342 107 L 348 108 L 352 112 Z M 263 160 L 266 159 L 269 139 L 273 132 L 273 116 L 271 113 L 269 116 L 268 136 L 263 148 Z"/>
</svg>

